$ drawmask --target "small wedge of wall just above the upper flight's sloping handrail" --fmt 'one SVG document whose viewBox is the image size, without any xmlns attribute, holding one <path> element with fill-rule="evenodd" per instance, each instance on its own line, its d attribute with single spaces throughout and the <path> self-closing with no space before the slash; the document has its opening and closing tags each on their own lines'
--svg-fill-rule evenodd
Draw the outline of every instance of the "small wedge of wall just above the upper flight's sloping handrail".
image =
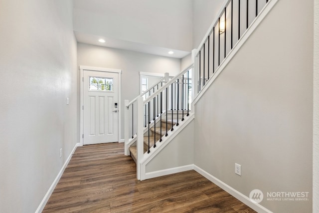
<svg viewBox="0 0 319 213">
<path fill-rule="evenodd" d="M 193 0 L 193 48 L 197 48 L 225 0 Z"/>
</svg>

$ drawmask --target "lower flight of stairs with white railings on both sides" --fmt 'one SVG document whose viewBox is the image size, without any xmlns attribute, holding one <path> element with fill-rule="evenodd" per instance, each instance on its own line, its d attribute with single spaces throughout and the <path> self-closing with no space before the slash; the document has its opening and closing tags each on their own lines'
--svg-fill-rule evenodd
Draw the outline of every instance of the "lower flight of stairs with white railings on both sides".
<svg viewBox="0 0 319 213">
<path fill-rule="evenodd" d="M 138 179 L 146 161 L 154 158 L 189 122 L 193 65 L 169 77 L 168 73 L 155 85 L 129 102 L 125 100 L 125 155 L 137 164 Z M 178 128 L 177 128 L 178 127 Z M 142 177 L 143 178 L 143 177 Z"/>
</svg>

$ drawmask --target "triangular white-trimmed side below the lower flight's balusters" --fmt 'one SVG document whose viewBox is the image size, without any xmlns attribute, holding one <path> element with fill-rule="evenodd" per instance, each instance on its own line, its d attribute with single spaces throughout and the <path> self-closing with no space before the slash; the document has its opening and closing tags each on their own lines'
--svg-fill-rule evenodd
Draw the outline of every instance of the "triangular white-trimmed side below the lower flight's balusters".
<svg viewBox="0 0 319 213">
<path fill-rule="evenodd" d="M 193 157 L 192 157 L 193 156 L 193 141 L 194 141 L 194 137 L 193 137 L 194 133 L 192 128 L 193 120 L 194 120 L 194 113 L 190 113 L 189 116 L 185 116 L 184 121 L 179 120 L 179 125 L 178 126 L 175 125 L 173 127 L 174 130 L 170 132 L 170 134 L 168 134 L 167 137 L 163 137 L 162 142 L 157 143 L 156 148 L 152 147 L 150 149 L 151 152 L 149 154 L 148 153 L 144 154 L 144 158 L 139 162 L 140 168 L 141 168 L 140 170 L 141 181 L 193 169 Z M 190 149 L 191 152 L 187 153 L 188 157 L 190 158 L 189 163 L 187 163 L 187 161 L 184 161 L 184 160 L 178 161 L 178 158 L 180 157 L 180 155 L 178 155 L 179 154 L 178 151 L 182 150 L 180 147 L 177 146 L 178 149 L 176 150 L 168 149 L 174 142 L 180 143 L 180 140 L 176 140 L 176 139 L 178 139 L 178 137 L 180 137 L 181 135 L 182 137 L 185 137 L 187 139 L 185 142 L 185 146 L 188 146 L 188 148 L 191 147 Z M 176 153 L 174 156 L 172 156 L 171 152 L 174 152 L 174 151 Z M 164 152 L 167 152 L 169 154 L 165 155 L 164 159 L 160 158 L 160 153 L 164 153 Z M 178 162 L 182 162 L 180 163 L 182 165 L 174 165 L 173 163 L 168 162 L 171 159 L 174 159 L 177 162 L 177 163 L 175 162 L 175 164 L 178 164 Z M 166 163 L 166 165 L 162 165 L 161 168 L 158 170 L 153 169 L 154 171 L 150 171 L 152 170 L 150 165 L 154 161 L 161 162 L 162 164 Z M 173 166 L 167 165 L 168 163 Z"/>
</svg>

